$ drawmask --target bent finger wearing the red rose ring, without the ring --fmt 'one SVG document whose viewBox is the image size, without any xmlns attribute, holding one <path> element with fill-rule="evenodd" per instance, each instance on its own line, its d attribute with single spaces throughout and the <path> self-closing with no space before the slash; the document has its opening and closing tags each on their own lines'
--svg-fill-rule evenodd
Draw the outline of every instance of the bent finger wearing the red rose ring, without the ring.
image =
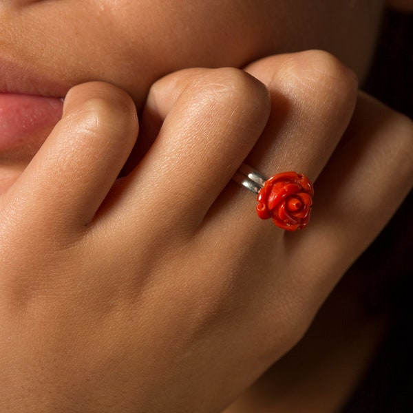
<svg viewBox="0 0 413 413">
<path fill-rule="evenodd" d="M 357 80 L 326 52 L 271 56 L 246 67 L 271 93 L 271 116 L 246 163 L 271 176 L 282 171 L 304 173 L 313 182 L 330 158 L 352 116 Z M 271 244 L 284 231 L 260 222 L 255 195 L 233 182 L 215 203 L 207 227 L 220 226 L 224 237 Z M 232 219 L 228 219 L 231 216 Z M 244 235 L 244 236 L 242 236 Z"/>
</svg>

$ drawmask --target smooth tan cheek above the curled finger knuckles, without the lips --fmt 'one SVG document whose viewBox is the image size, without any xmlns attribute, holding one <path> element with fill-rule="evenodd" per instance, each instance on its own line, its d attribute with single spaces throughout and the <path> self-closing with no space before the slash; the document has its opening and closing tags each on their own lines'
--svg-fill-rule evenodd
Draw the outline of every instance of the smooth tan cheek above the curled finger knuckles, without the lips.
<svg viewBox="0 0 413 413">
<path fill-rule="evenodd" d="M 140 106 L 150 85 L 169 72 L 242 67 L 279 52 L 324 48 L 361 72 L 372 30 L 354 30 L 366 25 L 367 6 L 350 10 L 349 3 L 354 1 L 39 1 L 19 14 L 17 34 L 0 45 L 9 41 L 6 49 L 67 85 L 114 83 Z M 377 25 L 375 16 L 369 28 Z"/>
</svg>

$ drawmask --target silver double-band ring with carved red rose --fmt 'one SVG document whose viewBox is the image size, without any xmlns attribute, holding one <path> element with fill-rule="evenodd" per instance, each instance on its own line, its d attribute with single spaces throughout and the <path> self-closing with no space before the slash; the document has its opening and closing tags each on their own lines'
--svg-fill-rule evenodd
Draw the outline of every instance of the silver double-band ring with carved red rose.
<svg viewBox="0 0 413 413">
<path fill-rule="evenodd" d="M 257 214 L 262 220 L 272 218 L 275 225 L 286 231 L 306 228 L 314 189 L 304 173 L 282 172 L 266 178 L 242 164 L 233 180 L 257 194 Z"/>
</svg>

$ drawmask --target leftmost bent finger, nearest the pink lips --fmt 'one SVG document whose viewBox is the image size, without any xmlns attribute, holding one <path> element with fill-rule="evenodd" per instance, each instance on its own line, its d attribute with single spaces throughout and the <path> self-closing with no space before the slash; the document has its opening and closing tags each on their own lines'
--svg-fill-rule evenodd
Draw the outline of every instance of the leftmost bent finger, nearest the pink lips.
<svg viewBox="0 0 413 413">
<path fill-rule="evenodd" d="M 36 232 L 79 229 L 100 207 L 138 134 L 136 109 L 103 82 L 70 90 L 63 118 L 2 198 L 3 222 Z M 54 231 L 55 231 L 54 230 Z"/>
</svg>

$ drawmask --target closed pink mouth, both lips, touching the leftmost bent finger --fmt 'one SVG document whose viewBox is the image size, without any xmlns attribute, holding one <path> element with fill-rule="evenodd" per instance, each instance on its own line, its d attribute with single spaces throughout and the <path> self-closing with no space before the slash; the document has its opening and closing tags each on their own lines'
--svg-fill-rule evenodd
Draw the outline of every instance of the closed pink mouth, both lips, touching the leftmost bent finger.
<svg viewBox="0 0 413 413">
<path fill-rule="evenodd" d="M 60 120 L 69 86 L 0 56 L 0 159 L 29 158 Z"/>
</svg>

